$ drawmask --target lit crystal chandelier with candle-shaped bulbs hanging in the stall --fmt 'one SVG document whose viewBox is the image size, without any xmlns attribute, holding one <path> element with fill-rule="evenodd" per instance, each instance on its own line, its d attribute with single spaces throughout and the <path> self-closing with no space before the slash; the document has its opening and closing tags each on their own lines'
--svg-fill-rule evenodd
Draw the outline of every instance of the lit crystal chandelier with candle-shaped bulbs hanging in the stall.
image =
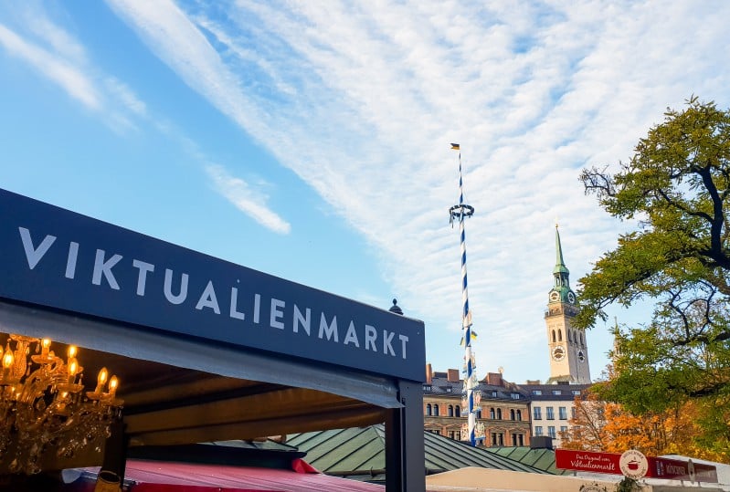
<svg viewBox="0 0 730 492">
<path fill-rule="evenodd" d="M 84 392 L 77 348 L 69 345 L 63 361 L 50 345 L 16 334 L 5 350 L 0 344 L 0 469 L 10 473 L 40 472 L 50 452 L 72 457 L 89 446 L 101 452 L 109 425 L 121 418 L 117 377 L 102 368 L 94 391 Z"/>
</svg>

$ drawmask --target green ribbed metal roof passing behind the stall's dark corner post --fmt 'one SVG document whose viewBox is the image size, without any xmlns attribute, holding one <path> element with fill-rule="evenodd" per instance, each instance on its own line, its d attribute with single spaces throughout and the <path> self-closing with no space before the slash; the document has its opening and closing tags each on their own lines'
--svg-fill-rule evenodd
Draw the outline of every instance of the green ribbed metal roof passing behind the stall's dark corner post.
<svg viewBox="0 0 730 492">
<path fill-rule="evenodd" d="M 424 431 L 427 474 L 477 466 L 500 470 L 551 474 L 537 466 L 472 447 L 439 434 Z M 304 460 L 332 475 L 382 474 L 386 467 L 386 434 L 383 424 L 331 431 L 290 434 L 287 445 L 307 455 Z M 555 457 L 553 458 L 555 462 Z M 353 473 L 358 472 L 358 473 Z"/>
</svg>

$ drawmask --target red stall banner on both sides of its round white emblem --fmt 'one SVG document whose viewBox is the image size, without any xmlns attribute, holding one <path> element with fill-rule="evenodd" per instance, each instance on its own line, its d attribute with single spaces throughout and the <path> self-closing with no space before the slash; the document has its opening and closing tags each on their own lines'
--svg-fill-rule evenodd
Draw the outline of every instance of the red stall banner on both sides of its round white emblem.
<svg viewBox="0 0 730 492">
<path fill-rule="evenodd" d="M 555 467 L 563 470 L 623 475 L 620 458 L 621 455 L 614 453 L 555 449 Z M 647 456 L 646 460 L 649 466 L 645 476 L 648 478 L 717 483 L 717 469 L 712 465 L 651 456 Z"/>
</svg>

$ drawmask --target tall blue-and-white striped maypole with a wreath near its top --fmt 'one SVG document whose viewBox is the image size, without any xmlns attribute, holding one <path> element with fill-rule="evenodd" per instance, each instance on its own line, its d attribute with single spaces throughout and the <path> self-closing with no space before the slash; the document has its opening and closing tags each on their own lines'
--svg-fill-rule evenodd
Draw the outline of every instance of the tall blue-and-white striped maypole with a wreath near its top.
<svg viewBox="0 0 730 492">
<path fill-rule="evenodd" d="M 452 143 L 451 149 L 459 151 L 459 204 L 449 209 L 449 221 L 451 226 L 454 219 L 459 220 L 459 233 L 461 237 L 461 341 L 464 344 L 464 397 L 467 406 L 467 432 L 471 445 L 477 445 L 477 408 L 479 404 L 479 392 L 476 390 L 478 382 L 476 376 L 476 364 L 471 353 L 471 339 L 476 334 L 471 330 L 471 310 L 469 309 L 469 294 L 466 278 L 466 234 L 464 232 L 464 219 L 474 215 L 474 207 L 464 204 L 464 188 L 461 179 L 461 150 L 458 143 Z"/>
</svg>

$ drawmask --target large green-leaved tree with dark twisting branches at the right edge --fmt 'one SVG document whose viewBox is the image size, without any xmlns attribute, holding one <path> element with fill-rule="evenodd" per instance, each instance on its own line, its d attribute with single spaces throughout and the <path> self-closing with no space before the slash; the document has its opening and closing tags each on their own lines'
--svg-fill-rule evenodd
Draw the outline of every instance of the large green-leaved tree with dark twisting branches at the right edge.
<svg viewBox="0 0 730 492">
<path fill-rule="evenodd" d="M 703 411 L 704 437 L 726 446 L 730 111 L 689 99 L 684 110 L 666 111 L 616 173 L 593 167 L 580 180 L 609 215 L 639 226 L 580 279 L 574 324 L 593 327 L 614 303 L 654 305 L 651 319 L 617 332 L 617 376 L 602 396 L 634 414 L 693 401 Z"/>
</svg>

